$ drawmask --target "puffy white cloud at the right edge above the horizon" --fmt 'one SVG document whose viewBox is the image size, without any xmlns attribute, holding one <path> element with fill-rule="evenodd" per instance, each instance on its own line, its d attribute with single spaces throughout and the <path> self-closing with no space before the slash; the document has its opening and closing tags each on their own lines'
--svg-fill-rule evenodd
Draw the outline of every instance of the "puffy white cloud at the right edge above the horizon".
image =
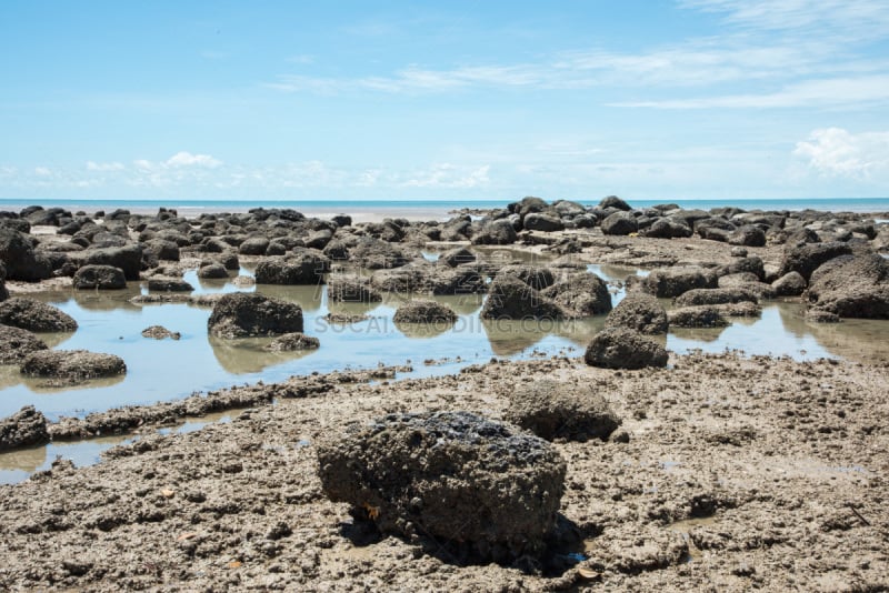
<svg viewBox="0 0 889 593">
<path fill-rule="evenodd" d="M 793 154 L 811 169 L 830 177 L 889 177 L 889 131 L 851 133 L 842 128 L 815 130 L 797 142 Z"/>
</svg>

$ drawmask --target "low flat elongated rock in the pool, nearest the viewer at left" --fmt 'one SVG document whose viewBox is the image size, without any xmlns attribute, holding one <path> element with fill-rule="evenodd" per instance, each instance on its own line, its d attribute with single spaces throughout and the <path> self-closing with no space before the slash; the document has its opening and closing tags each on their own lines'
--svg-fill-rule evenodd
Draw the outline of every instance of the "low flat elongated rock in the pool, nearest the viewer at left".
<svg viewBox="0 0 889 593">
<path fill-rule="evenodd" d="M 20 370 L 27 376 L 79 382 L 124 374 L 127 365 L 123 359 L 114 354 L 86 350 L 42 350 L 29 354 Z"/>
</svg>

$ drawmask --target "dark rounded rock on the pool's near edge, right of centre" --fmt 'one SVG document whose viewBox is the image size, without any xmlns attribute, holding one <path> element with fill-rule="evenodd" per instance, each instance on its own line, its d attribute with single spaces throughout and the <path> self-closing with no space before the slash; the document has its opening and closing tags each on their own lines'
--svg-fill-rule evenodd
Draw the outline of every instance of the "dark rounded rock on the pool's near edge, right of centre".
<svg viewBox="0 0 889 593">
<path fill-rule="evenodd" d="M 643 369 L 667 366 L 667 351 L 636 330 L 606 328 L 592 339 L 583 354 L 590 366 L 602 369 Z"/>
</svg>

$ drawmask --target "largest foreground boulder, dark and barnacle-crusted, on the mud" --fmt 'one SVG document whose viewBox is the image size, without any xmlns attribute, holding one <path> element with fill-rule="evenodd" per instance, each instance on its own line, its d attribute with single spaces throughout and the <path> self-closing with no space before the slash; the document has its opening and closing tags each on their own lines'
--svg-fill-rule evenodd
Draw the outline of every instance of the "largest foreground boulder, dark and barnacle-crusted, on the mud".
<svg viewBox="0 0 889 593">
<path fill-rule="evenodd" d="M 318 463 L 356 516 L 469 562 L 540 555 L 566 474 L 542 439 L 469 412 L 387 415 L 319 443 Z"/>
</svg>

